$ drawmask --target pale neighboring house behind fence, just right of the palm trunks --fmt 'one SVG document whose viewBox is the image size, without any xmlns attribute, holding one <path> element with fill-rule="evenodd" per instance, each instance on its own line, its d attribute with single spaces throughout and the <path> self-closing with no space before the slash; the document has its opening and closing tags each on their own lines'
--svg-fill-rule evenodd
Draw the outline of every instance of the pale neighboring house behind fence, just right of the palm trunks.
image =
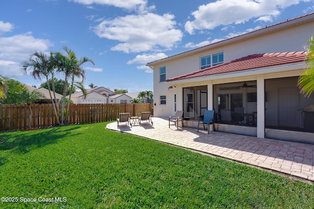
<svg viewBox="0 0 314 209">
<path fill-rule="evenodd" d="M 86 98 L 84 98 L 84 95 L 82 92 L 76 92 L 72 93 L 71 100 L 75 104 L 106 104 L 107 98 L 111 94 L 114 94 L 114 92 L 110 91 L 109 89 L 105 87 L 96 87 L 93 89 L 87 89 L 86 90 L 87 95 Z M 69 96 L 66 96 L 69 98 Z"/>
</svg>

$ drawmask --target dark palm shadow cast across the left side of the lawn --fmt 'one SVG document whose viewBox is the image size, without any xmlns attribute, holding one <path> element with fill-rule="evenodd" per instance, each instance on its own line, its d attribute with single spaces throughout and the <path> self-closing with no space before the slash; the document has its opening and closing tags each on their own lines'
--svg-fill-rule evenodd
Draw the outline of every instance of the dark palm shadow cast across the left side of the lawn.
<svg viewBox="0 0 314 209">
<path fill-rule="evenodd" d="M 78 129 L 79 127 L 61 128 L 55 127 L 51 129 L 42 129 L 35 131 L 17 131 L 7 132 L 0 135 L 1 140 L 5 140 L 0 145 L 1 150 L 12 150 L 17 153 L 27 153 L 32 149 L 41 148 L 43 146 L 56 143 L 58 139 L 62 139 L 65 136 L 77 135 L 71 131 Z M 1 163 L 0 163 L 1 165 Z"/>
</svg>

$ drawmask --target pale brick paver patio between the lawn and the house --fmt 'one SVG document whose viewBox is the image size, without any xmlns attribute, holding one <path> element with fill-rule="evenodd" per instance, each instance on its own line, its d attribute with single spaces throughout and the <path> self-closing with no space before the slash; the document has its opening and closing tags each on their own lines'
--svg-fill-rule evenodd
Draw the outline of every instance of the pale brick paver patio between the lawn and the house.
<svg viewBox="0 0 314 209">
<path fill-rule="evenodd" d="M 121 125 L 118 129 L 117 122 L 113 122 L 106 128 L 314 182 L 314 145 L 213 131 L 208 135 L 201 126 L 203 129 L 197 133 L 195 128 L 177 129 L 174 123 L 169 129 L 167 118 L 153 117 L 153 124 L 142 123 L 142 126 L 133 125 L 132 128 Z"/>
</svg>

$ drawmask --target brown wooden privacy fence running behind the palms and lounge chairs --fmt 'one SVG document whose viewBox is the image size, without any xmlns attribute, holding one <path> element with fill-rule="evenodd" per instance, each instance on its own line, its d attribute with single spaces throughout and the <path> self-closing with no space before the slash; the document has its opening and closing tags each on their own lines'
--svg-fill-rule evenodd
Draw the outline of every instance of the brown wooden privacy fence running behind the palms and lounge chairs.
<svg viewBox="0 0 314 209">
<path fill-rule="evenodd" d="M 141 112 L 150 112 L 153 103 L 134 104 L 70 104 L 69 124 L 86 124 L 116 120 L 119 113 L 140 116 Z M 52 104 L 31 104 L 31 129 L 57 126 Z M 59 105 L 61 110 L 61 105 Z M 14 104 L 0 104 L 0 131 L 27 130 L 29 107 Z"/>
</svg>

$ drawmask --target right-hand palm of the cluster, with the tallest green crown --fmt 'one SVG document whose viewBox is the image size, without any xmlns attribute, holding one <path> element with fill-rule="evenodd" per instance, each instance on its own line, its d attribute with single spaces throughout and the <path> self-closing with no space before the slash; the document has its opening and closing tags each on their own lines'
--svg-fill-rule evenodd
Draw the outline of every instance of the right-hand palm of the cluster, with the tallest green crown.
<svg viewBox="0 0 314 209">
<path fill-rule="evenodd" d="M 65 106 L 65 96 L 68 90 L 68 79 L 72 78 L 71 79 L 71 91 L 69 94 L 69 101 L 70 101 L 72 90 L 75 83 L 74 82 L 75 78 L 81 77 L 82 81 L 84 81 L 85 79 L 85 71 L 82 69 L 82 65 L 86 62 L 91 62 L 93 65 L 95 65 L 95 63 L 93 60 L 87 57 L 82 57 L 78 60 L 75 52 L 66 46 L 63 46 L 62 49 L 65 52 L 67 52 L 67 55 L 63 55 L 61 52 L 55 52 L 54 63 L 56 64 L 58 72 L 64 74 L 65 85 L 63 88 L 63 100 L 62 100 L 62 105 L 61 105 L 61 125 L 64 125 L 64 106 Z M 69 105 L 70 104 L 68 103 L 67 112 L 69 110 Z"/>
</svg>

